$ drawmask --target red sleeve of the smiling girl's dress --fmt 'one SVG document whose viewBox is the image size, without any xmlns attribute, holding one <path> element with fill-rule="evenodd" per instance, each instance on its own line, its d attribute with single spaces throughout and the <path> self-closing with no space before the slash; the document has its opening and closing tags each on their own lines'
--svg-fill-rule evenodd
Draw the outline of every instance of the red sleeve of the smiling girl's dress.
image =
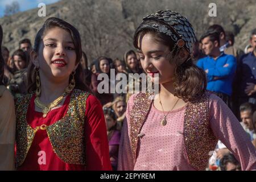
<svg viewBox="0 0 256 182">
<path fill-rule="evenodd" d="M 104 113 L 92 95 L 86 100 L 85 117 L 86 170 L 112 170 Z"/>
</svg>

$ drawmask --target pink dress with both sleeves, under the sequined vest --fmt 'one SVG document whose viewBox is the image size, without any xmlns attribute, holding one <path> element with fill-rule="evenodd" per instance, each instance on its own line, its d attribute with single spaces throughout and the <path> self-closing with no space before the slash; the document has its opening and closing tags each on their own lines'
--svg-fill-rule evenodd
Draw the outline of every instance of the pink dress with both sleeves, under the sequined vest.
<svg viewBox="0 0 256 182">
<path fill-rule="evenodd" d="M 171 111 L 167 115 L 166 126 L 160 124 L 163 111 L 152 105 L 141 129 L 138 155 L 135 165 L 133 164 L 130 147 L 130 111 L 135 96 L 136 94 L 131 96 L 127 104 L 119 145 L 118 170 L 195 170 L 189 163 L 183 137 L 187 105 Z M 228 106 L 219 97 L 210 94 L 209 111 L 210 127 L 214 135 L 232 151 L 240 161 L 242 170 L 256 169 L 255 148 Z"/>
</svg>

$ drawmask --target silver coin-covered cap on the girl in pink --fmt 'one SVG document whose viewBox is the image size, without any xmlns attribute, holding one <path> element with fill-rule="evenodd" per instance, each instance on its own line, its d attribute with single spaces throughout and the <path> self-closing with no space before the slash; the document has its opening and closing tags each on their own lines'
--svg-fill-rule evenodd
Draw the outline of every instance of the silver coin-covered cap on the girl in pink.
<svg viewBox="0 0 256 182">
<path fill-rule="evenodd" d="M 192 54 L 194 44 L 196 42 L 196 36 L 192 25 L 188 22 L 188 19 L 182 16 L 181 14 L 177 13 L 176 11 L 171 10 L 160 10 L 156 11 L 156 13 L 147 15 L 143 18 L 145 20 L 158 20 L 163 22 L 165 25 L 162 24 L 145 24 L 147 27 L 154 28 L 159 32 L 162 32 L 171 37 L 174 42 L 176 42 L 179 48 L 185 47 L 187 51 Z M 171 28 L 170 28 L 171 27 Z M 177 37 L 174 32 L 176 32 L 179 37 Z"/>
</svg>

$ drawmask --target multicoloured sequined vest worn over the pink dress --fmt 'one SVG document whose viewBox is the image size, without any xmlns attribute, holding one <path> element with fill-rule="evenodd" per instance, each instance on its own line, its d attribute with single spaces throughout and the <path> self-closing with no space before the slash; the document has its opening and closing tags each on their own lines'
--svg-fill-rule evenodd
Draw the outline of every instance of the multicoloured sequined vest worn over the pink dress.
<svg viewBox="0 0 256 182">
<path fill-rule="evenodd" d="M 188 102 L 184 115 L 184 143 L 189 163 L 197 170 L 206 167 L 210 158 L 209 152 L 213 151 L 217 144 L 217 138 L 213 135 L 209 125 L 209 96 L 205 92 L 203 96 L 193 102 Z M 139 134 L 143 123 L 150 111 L 152 100 L 150 95 L 139 93 L 134 98 L 134 105 L 130 115 L 130 138 L 133 162 L 137 159 Z"/>
</svg>

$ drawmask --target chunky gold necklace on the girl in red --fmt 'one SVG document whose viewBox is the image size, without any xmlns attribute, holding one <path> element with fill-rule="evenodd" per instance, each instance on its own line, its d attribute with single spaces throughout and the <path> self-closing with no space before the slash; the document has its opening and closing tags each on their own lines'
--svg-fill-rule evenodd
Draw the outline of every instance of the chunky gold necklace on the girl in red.
<svg viewBox="0 0 256 182">
<path fill-rule="evenodd" d="M 35 98 L 35 105 L 36 107 L 38 107 L 39 109 L 42 110 L 43 112 L 43 118 L 45 118 L 47 116 L 47 113 L 49 113 L 49 111 L 53 108 L 56 107 L 57 105 L 60 104 L 60 102 L 63 100 L 63 98 L 65 97 L 66 92 L 64 92 L 62 94 L 62 96 L 56 98 L 56 100 L 54 100 L 53 102 L 51 102 L 50 104 L 43 104 L 40 100 L 39 100 L 39 96 L 36 96 Z"/>
</svg>

